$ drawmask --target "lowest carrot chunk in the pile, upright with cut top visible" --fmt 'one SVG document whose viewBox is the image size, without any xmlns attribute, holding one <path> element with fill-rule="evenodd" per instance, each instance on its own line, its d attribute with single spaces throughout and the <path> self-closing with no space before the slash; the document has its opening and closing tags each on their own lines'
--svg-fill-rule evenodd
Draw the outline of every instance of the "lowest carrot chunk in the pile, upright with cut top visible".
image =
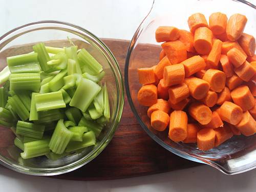
<svg viewBox="0 0 256 192">
<path fill-rule="evenodd" d="M 199 150 L 208 151 L 215 145 L 215 131 L 204 128 L 197 133 L 197 146 Z"/>
</svg>

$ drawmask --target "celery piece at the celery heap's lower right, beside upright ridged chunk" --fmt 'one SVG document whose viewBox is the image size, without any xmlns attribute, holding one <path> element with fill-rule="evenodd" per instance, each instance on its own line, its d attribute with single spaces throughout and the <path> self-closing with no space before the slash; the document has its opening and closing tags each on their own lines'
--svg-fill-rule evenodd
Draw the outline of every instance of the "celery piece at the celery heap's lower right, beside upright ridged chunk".
<svg viewBox="0 0 256 192">
<path fill-rule="evenodd" d="M 71 141 L 69 145 L 67 146 L 66 152 L 73 152 L 76 150 L 80 150 L 80 148 L 85 148 L 88 146 L 92 146 L 96 144 L 96 138 L 95 134 L 90 131 L 87 133 L 84 133 L 82 136 L 82 142 L 79 141 Z"/>
</svg>

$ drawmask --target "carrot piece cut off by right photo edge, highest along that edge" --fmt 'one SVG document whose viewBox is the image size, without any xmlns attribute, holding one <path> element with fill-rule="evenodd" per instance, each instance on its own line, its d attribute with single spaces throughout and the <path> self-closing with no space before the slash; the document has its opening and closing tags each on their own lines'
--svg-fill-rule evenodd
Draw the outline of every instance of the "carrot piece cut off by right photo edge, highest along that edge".
<svg viewBox="0 0 256 192">
<path fill-rule="evenodd" d="M 244 52 L 248 56 L 253 56 L 255 53 L 255 38 L 252 35 L 242 33 L 241 37 L 238 39 L 239 45 L 242 47 Z"/>
</svg>

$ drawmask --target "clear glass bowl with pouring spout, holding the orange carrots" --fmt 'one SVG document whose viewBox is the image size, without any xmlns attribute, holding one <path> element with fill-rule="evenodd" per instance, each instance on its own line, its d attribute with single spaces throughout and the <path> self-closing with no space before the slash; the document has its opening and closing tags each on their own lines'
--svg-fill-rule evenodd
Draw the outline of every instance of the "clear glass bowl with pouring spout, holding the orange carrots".
<svg viewBox="0 0 256 192">
<path fill-rule="evenodd" d="M 256 7 L 246 1 L 222 0 L 155 0 L 150 13 L 145 17 L 131 41 L 125 62 L 125 91 L 131 109 L 145 132 L 166 150 L 189 160 L 209 164 L 231 175 L 246 172 L 256 167 L 256 135 L 234 136 L 212 150 L 203 152 L 195 144 L 176 143 L 168 139 L 168 130 L 157 132 L 151 127 L 147 108 L 139 105 L 137 93 L 141 87 L 137 68 L 152 67 L 159 61 L 160 43 L 155 40 L 159 26 L 175 26 L 189 30 L 187 18 L 193 13 L 223 12 L 227 16 L 241 13 L 247 16 L 245 32 L 256 36 Z"/>
</svg>

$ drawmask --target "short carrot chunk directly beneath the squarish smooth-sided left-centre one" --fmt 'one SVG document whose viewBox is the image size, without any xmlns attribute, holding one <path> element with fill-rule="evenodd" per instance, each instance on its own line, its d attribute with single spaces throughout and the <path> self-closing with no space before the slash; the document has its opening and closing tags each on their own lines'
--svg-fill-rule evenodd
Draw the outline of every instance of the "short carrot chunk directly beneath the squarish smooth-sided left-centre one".
<svg viewBox="0 0 256 192">
<path fill-rule="evenodd" d="M 176 104 L 189 96 L 189 89 L 185 83 L 177 84 L 168 89 L 169 99 Z"/>
</svg>

